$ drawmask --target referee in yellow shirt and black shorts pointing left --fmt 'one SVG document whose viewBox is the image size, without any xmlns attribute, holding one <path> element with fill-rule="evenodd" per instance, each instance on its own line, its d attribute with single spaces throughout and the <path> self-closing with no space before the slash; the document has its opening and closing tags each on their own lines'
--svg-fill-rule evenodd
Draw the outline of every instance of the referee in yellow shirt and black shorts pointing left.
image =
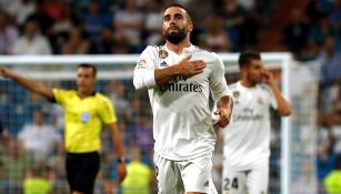
<svg viewBox="0 0 341 194">
<path fill-rule="evenodd" d="M 106 124 L 112 135 L 118 155 L 118 176 L 126 176 L 124 151 L 110 100 L 96 92 L 97 69 L 80 64 L 77 69 L 77 90 L 49 89 L 0 67 L 0 75 L 12 79 L 28 90 L 46 96 L 64 108 L 67 151 L 66 171 L 71 194 L 92 194 L 100 170 L 100 131 Z"/>
</svg>

